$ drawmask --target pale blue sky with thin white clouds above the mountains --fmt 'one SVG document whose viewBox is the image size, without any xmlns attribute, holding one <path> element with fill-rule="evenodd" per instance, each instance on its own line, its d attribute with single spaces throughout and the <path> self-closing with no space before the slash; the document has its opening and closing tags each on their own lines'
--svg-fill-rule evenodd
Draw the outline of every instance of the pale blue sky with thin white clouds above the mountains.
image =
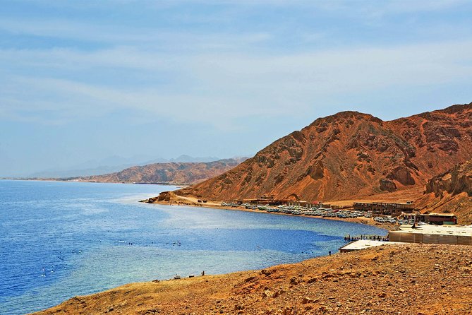
<svg viewBox="0 0 472 315">
<path fill-rule="evenodd" d="M 472 1 L 23 1 L 0 9 L 0 177 L 252 156 L 317 117 L 472 102 Z"/>
</svg>

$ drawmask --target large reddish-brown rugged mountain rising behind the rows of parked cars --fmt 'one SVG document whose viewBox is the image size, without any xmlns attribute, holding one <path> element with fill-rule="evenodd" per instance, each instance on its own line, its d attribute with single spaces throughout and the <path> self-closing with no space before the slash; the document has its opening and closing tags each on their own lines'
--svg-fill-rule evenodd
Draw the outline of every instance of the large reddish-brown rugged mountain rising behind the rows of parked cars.
<svg viewBox="0 0 472 315">
<path fill-rule="evenodd" d="M 319 118 L 232 170 L 176 191 L 213 200 L 334 201 L 423 186 L 472 153 L 472 103 L 382 121 L 340 112 Z"/>
</svg>

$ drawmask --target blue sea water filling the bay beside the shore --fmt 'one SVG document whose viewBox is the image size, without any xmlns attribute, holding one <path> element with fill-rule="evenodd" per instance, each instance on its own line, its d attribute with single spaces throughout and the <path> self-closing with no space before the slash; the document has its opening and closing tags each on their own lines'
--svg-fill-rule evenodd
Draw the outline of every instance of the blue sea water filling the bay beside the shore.
<svg viewBox="0 0 472 315">
<path fill-rule="evenodd" d="M 138 203 L 172 186 L 0 180 L 0 314 L 125 283 L 228 273 L 336 252 L 350 222 Z"/>
</svg>

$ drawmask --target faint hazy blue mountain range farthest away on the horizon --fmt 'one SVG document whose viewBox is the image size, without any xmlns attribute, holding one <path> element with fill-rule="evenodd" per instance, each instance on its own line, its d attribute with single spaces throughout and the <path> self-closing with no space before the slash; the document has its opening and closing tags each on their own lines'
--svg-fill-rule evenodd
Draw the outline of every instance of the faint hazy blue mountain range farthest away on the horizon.
<svg viewBox="0 0 472 315">
<path fill-rule="evenodd" d="M 102 160 L 90 160 L 78 165 L 70 167 L 61 167 L 56 169 L 35 172 L 28 177 L 31 178 L 63 178 L 63 177 L 85 177 L 97 174 L 107 174 L 111 172 L 119 172 L 135 165 L 149 165 L 153 163 L 169 163 L 169 162 L 212 162 L 220 160 L 218 157 L 191 157 L 189 155 L 181 155 L 176 158 L 164 159 L 143 156 L 120 157 L 111 156 Z"/>
</svg>

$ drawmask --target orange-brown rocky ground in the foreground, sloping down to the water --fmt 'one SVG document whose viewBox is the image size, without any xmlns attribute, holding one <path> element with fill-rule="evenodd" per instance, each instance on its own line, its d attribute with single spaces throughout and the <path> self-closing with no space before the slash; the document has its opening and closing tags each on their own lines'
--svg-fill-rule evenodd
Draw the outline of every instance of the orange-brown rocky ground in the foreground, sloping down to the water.
<svg viewBox="0 0 472 315">
<path fill-rule="evenodd" d="M 388 245 L 262 271 L 133 283 L 38 314 L 471 314 L 471 249 Z"/>
</svg>

